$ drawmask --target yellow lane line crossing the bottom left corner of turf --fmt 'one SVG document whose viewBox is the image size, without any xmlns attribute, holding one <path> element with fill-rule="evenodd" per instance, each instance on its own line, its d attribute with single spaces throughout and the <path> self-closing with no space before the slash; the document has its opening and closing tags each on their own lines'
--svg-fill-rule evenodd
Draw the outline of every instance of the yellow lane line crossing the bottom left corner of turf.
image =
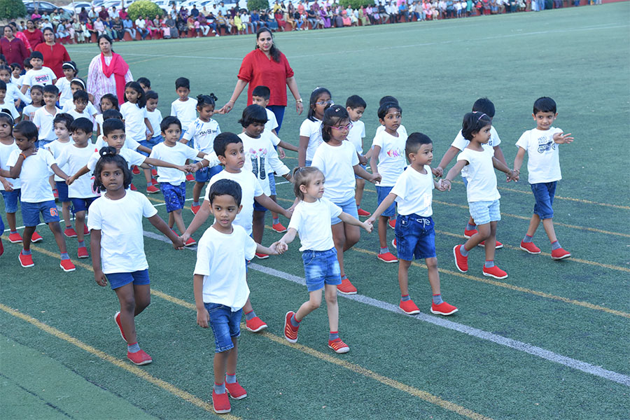
<svg viewBox="0 0 630 420">
<path fill-rule="evenodd" d="M 176 386 L 174 386 L 173 384 L 170 384 L 167 381 L 164 381 L 162 379 L 156 378 L 156 377 L 154 377 L 151 374 L 148 374 L 146 372 L 146 370 L 142 370 L 139 367 L 137 367 L 136 365 L 130 364 L 130 362 L 126 362 L 125 360 L 120 360 L 118 358 L 115 358 L 114 356 L 110 356 L 109 354 L 105 353 L 104 351 L 96 349 L 96 348 L 90 346 L 89 344 L 85 344 L 84 342 L 80 341 L 79 339 L 76 339 L 76 338 L 72 337 L 71 335 L 66 334 L 65 332 L 57 330 L 57 328 L 51 327 L 50 325 L 47 325 L 47 324 L 45 324 L 45 323 L 43 323 L 41 321 L 38 321 L 36 318 L 33 318 L 32 316 L 29 316 L 27 314 L 22 314 L 22 312 L 18 311 L 18 309 L 10 308 L 10 307 L 8 307 L 8 306 L 6 306 L 4 304 L 1 304 L 1 303 L 0 303 L 0 309 L 5 311 L 9 315 L 13 315 L 16 318 L 22 319 L 22 321 L 27 321 L 28 323 L 36 326 L 40 330 L 48 332 L 48 334 L 50 334 L 50 335 L 52 335 L 54 337 L 62 339 L 65 342 L 68 342 L 68 343 L 72 344 L 73 346 L 77 346 L 79 349 L 87 351 L 87 353 L 90 353 L 90 354 L 93 354 L 94 356 L 97 356 L 101 360 L 104 360 L 104 361 L 106 361 L 108 363 L 111 363 L 114 366 L 120 367 L 121 369 L 126 370 L 127 372 L 130 372 L 130 373 L 136 375 L 140 379 L 144 379 L 145 381 L 149 382 L 150 384 L 159 386 L 160 388 L 164 389 L 165 391 L 168 391 L 169 393 L 172 393 L 173 395 L 175 395 L 176 397 L 181 398 L 182 400 L 188 401 L 191 404 L 196 405 L 197 407 L 200 407 L 200 408 L 206 410 L 207 412 L 210 412 L 210 413 L 214 414 L 214 411 L 212 409 L 212 405 L 209 402 L 206 402 L 206 401 L 202 400 L 201 398 L 197 398 L 197 397 L 195 397 L 195 395 L 193 395 L 191 393 L 188 393 L 186 391 L 183 391 L 183 390 L 177 388 Z M 231 414 L 221 414 L 221 418 L 223 418 L 223 419 L 230 419 L 230 420 L 241 419 L 241 417 L 232 416 Z"/>
</svg>

